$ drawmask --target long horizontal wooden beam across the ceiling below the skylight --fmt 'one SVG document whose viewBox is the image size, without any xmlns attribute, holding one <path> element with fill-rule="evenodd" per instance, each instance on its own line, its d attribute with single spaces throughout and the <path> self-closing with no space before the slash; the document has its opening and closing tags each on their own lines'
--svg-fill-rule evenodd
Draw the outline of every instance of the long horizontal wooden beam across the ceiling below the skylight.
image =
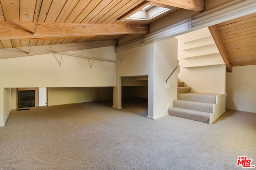
<svg viewBox="0 0 256 170">
<path fill-rule="evenodd" d="M 90 35 L 122 35 L 149 32 L 149 25 L 140 24 L 38 22 L 36 35 L 32 35 L 34 26 L 34 22 L 28 21 L 0 21 L 0 40 L 87 37 Z"/>
</svg>

